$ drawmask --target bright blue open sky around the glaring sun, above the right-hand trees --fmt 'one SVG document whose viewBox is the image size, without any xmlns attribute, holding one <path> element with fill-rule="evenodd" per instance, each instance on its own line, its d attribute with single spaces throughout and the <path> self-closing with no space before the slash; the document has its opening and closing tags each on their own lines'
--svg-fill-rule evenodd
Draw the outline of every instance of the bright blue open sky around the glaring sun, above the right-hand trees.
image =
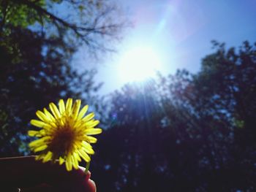
<svg viewBox="0 0 256 192">
<path fill-rule="evenodd" d="M 124 33 L 116 54 L 99 64 L 86 63 L 86 67 L 97 67 L 96 79 L 104 82 L 102 94 L 152 75 L 151 67 L 165 75 L 176 69 L 198 72 L 201 59 L 212 53 L 213 39 L 227 47 L 244 40 L 256 42 L 255 0 L 116 1 L 134 24 Z M 83 54 L 78 53 L 74 61 L 85 66 Z"/>
</svg>

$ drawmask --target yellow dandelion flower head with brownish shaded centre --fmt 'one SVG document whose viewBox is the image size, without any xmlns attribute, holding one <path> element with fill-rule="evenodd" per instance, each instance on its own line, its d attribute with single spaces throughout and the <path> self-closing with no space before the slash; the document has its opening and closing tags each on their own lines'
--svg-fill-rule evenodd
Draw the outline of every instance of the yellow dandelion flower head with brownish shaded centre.
<svg viewBox="0 0 256 192">
<path fill-rule="evenodd" d="M 41 129 L 29 131 L 29 136 L 38 137 L 29 143 L 29 147 L 35 153 L 39 152 L 37 160 L 65 163 L 68 171 L 72 167 L 78 169 L 81 158 L 89 164 L 90 155 L 94 154 L 91 143 L 97 142 L 91 135 L 100 134 L 102 129 L 95 128 L 99 120 L 94 120 L 93 112 L 85 116 L 88 105 L 80 110 L 80 104 L 81 101 L 76 100 L 72 106 L 72 99 L 67 99 L 64 104 L 61 99 L 59 109 L 50 103 L 50 112 L 45 108 L 43 112 L 36 112 L 39 120 L 31 120 L 30 123 Z"/>
</svg>

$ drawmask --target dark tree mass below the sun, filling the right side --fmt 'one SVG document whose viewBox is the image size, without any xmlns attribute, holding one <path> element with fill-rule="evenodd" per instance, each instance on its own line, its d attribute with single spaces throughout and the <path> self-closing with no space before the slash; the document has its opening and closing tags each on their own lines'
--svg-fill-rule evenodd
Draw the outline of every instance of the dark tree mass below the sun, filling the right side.
<svg viewBox="0 0 256 192">
<path fill-rule="evenodd" d="M 255 190 L 255 46 L 215 45 L 198 74 L 113 93 L 92 164 L 99 190 Z"/>
</svg>

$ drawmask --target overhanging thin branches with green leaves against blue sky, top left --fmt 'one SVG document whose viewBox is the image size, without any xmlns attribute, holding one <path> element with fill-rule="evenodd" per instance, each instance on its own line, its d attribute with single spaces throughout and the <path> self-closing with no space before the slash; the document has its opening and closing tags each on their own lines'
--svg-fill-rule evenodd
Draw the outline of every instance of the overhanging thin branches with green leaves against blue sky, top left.
<svg viewBox="0 0 256 192">
<path fill-rule="evenodd" d="M 9 33 L 9 25 L 33 26 L 44 37 L 61 38 L 66 46 L 85 43 L 93 51 L 105 51 L 112 50 L 107 42 L 118 39 L 125 25 L 121 17 L 115 19 L 117 14 L 121 16 L 113 1 L 1 0 L 0 30 Z"/>
</svg>

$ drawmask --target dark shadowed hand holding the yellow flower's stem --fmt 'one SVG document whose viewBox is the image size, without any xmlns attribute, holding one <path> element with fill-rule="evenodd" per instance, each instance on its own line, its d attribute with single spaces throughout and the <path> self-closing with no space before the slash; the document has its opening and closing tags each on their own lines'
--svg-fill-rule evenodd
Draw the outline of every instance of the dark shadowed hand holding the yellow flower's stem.
<svg viewBox="0 0 256 192">
<path fill-rule="evenodd" d="M 91 173 L 85 174 L 85 169 L 79 168 L 67 172 L 65 166 L 43 164 L 35 161 L 34 156 L 0 158 L 0 191 L 95 192 Z"/>
</svg>

